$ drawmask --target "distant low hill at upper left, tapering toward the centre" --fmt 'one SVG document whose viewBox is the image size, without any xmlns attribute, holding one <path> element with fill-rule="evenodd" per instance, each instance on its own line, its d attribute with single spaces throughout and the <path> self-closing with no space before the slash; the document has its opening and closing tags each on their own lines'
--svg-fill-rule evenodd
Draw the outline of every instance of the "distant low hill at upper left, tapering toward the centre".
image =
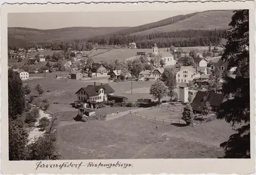
<svg viewBox="0 0 256 175">
<path fill-rule="evenodd" d="M 29 28 L 8 28 L 8 45 L 20 44 L 26 46 L 27 43 L 49 43 L 67 41 L 81 38 L 104 35 L 111 32 L 117 32 L 127 27 L 116 28 L 91 28 L 74 27 L 54 30 L 38 30 Z"/>
</svg>

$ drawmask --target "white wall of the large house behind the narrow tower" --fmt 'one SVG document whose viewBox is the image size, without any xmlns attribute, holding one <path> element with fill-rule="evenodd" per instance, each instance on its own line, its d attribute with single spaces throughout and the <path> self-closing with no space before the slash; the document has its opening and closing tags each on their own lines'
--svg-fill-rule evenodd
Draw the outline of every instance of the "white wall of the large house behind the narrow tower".
<svg viewBox="0 0 256 175">
<path fill-rule="evenodd" d="M 176 73 L 176 82 L 189 83 L 195 78 L 200 78 L 200 73 L 194 73 L 188 69 L 182 69 Z"/>
</svg>

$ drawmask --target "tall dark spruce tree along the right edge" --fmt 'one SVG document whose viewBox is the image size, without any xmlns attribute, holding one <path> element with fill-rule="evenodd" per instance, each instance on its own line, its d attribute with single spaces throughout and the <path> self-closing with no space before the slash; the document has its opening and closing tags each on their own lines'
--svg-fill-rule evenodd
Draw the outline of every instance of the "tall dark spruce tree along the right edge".
<svg viewBox="0 0 256 175">
<path fill-rule="evenodd" d="M 224 158 L 250 158 L 249 10 L 234 11 L 229 26 L 222 60 L 227 62 L 228 70 L 237 67 L 236 78 L 224 78 L 222 92 L 227 100 L 221 104 L 217 118 L 232 126 L 241 123 L 242 127 L 220 146 L 225 149 Z"/>
</svg>

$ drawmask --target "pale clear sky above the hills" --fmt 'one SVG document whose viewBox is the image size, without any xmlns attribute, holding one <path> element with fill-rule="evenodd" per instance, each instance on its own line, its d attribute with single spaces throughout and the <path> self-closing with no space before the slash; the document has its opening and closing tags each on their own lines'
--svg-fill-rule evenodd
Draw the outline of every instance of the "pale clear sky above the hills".
<svg viewBox="0 0 256 175">
<path fill-rule="evenodd" d="M 197 11 L 121 11 L 9 13 L 8 27 L 59 29 L 68 27 L 135 27 Z"/>
</svg>

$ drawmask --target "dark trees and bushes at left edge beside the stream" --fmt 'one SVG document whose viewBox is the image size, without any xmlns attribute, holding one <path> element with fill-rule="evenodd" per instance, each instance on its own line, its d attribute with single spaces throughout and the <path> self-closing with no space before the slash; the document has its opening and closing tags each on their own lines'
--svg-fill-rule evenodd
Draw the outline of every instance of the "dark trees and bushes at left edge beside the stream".
<svg viewBox="0 0 256 175">
<path fill-rule="evenodd" d="M 36 86 L 38 94 L 43 93 L 40 86 Z M 25 122 L 38 117 L 38 109 L 33 108 L 24 118 L 25 109 L 28 104 L 25 95 L 31 89 L 23 86 L 18 74 L 8 70 L 8 118 L 9 118 L 9 160 L 55 160 L 60 155 L 56 152 L 54 133 L 40 136 L 34 143 L 28 144 L 28 133 L 25 129 Z M 31 121 L 32 122 L 32 121 Z"/>
</svg>

